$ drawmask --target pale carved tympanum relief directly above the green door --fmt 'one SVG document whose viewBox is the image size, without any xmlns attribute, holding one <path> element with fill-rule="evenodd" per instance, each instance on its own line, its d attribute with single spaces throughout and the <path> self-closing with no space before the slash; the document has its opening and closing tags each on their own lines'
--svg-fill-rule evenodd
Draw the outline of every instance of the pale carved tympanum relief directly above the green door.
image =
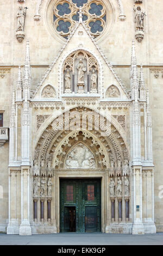
<svg viewBox="0 0 163 256">
<path fill-rule="evenodd" d="M 85 145 L 80 143 L 67 155 L 66 168 L 95 168 L 95 157 Z"/>
</svg>

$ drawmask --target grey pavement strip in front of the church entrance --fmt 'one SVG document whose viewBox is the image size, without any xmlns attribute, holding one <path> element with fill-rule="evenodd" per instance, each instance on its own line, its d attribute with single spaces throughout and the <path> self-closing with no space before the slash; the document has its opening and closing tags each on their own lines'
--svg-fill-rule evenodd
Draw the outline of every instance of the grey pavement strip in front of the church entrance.
<svg viewBox="0 0 163 256">
<path fill-rule="evenodd" d="M 163 233 L 146 235 L 58 233 L 32 236 L 1 233 L 0 245 L 163 245 Z"/>
</svg>

